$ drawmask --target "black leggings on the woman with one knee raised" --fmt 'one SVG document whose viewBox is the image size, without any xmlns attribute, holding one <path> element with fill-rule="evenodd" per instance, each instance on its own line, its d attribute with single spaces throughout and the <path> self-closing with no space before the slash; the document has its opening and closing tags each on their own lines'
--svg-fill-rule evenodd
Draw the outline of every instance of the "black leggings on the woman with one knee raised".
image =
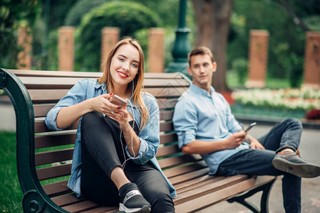
<svg viewBox="0 0 320 213">
<path fill-rule="evenodd" d="M 132 125 L 133 122 L 130 122 Z M 138 126 L 134 126 L 138 134 Z M 123 137 L 123 135 L 121 136 Z M 125 139 L 120 142 L 117 121 L 93 111 L 81 122 L 81 192 L 99 204 L 117 206 L 119 192 L 110 179 L 113 168 L 121 166 L 128 155 Z M 169 187 L 162 174 L 151 163 L 138 165 L 133 160 L 125 163 L 125 175 L 138 185 L 140 192 L 151 204 L 152 212 L 175 212 Z"/>
</svg>

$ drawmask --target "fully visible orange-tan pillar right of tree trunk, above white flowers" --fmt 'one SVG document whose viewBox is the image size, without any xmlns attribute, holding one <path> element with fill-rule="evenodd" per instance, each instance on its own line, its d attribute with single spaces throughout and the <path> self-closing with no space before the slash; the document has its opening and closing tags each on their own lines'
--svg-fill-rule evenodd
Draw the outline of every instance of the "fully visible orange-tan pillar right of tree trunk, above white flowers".
<svg viewBox="0 0 320 213">
<path fill-rule="evenodd" d="M 269 32 L 262 30 L 250 31 L 249 44 L 249 75 L 247 87 L 265 86 L 268 60 Z"/>
</svg>

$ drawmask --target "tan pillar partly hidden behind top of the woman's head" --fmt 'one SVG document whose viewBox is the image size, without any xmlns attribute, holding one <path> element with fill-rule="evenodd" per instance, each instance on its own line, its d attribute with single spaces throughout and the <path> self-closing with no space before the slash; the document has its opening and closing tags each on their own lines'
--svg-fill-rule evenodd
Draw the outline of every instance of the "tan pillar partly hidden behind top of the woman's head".
<svg viewBox="0 0 320 213">
<path fill-rule="evenodd" d="M 113 48 L 115 43 L 118 42 L 120 29 L 105 27 L 102 29 L 101 33 L 101 60 L 103 61 L 108 57 L 110 50 Z"/>
</svg>

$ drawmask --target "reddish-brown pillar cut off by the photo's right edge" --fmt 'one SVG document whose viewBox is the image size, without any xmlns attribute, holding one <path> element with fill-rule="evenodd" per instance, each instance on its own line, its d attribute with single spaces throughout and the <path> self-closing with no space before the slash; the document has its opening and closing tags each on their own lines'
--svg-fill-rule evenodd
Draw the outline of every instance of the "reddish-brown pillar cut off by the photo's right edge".
<svg viewBox="0 0 320 213">
<path fill-rule="evenodd" d="M 302 87 L 320 88 L 320 33 L 306 32 Z"/>
</svg>

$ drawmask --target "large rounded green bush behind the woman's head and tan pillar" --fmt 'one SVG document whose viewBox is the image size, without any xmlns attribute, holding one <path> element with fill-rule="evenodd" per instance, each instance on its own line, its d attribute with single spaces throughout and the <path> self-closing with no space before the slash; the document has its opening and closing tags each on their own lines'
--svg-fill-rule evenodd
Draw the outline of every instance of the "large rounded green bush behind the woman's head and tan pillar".
<svg viewBox="0 0 320 213">
<path fill-rule="evenodd" d="M 141 28 L 160 26 L 158 16 L 142 4 L 111 1 L 92 9 L 83 17 L 76 32 L 76 70 L 97 71 L 100 67 L 101 30 L 120 28 L 120 37 Z"/>
</svg>

